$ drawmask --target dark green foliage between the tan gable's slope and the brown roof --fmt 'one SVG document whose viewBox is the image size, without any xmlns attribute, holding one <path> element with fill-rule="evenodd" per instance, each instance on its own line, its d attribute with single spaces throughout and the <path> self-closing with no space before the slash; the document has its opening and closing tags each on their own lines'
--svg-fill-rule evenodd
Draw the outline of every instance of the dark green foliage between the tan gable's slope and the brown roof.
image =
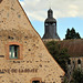
<svg viewBox="0 0 83 83">
<path fill-rule="evenodd" d="M 66 61 L 69 60 L 69 54 L 66 49 L 61 49 L 61 45 L 55 41 L 50 41 L 45 43 L 49 52 L 61 65 L 61 68 L 66 72 Z"/>
</svg>

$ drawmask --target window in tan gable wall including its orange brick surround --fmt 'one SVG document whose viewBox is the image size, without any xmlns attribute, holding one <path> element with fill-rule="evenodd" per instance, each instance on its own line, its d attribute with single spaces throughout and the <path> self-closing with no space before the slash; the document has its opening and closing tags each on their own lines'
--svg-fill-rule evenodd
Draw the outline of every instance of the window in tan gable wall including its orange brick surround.
<svg viewBox="0 0 83 83">
<path fill-rule="evenodd" d="M 23 45 L 19 42 L 9 42 L 6 44 L 6 59 L 7 60 L 22 60 Z"/>
</svg>

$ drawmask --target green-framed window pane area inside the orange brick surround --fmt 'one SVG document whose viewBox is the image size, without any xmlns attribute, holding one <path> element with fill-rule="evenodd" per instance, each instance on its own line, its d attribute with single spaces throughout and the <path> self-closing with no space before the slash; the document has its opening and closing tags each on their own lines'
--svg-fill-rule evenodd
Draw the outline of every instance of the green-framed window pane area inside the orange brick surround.
<svg viewBox="0 0 83 83">
<path fill-rule="evenodd" d="M 18 54 L 19 54 L 19 45 L 10 45 L 9 46 L 9 58 L 18 59 Z"/>
</svg>

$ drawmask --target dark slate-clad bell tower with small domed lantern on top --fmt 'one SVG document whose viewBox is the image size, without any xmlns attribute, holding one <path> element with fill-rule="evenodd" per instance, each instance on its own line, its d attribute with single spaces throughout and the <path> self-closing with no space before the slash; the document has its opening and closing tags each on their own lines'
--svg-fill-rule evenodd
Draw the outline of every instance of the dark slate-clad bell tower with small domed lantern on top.
<svg viewBox="0 0 83 83">
<path fill-rule="evenodd" d="M 44 39 L 60 40 L 60 38 L 56 33 L 56 20 L 53 18 L 52 9 L 48 10 L 48 18 L 44 21 L 44 35 L 42 39 L 43 40 Z"/>
</svg>

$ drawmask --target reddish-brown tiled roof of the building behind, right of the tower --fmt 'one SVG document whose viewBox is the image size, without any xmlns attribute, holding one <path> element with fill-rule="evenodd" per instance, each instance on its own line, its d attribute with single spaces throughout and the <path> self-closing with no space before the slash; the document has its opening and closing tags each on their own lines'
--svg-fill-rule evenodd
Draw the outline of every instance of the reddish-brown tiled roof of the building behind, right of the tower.
<svg viewBox="0 0 83 83">
<path fill-rule="evenodd" d="M 59 42 L 61 48 L 66 48 L 70 56 L 83 56 L 83 39 L 64 40 Z"/>
</svg>

